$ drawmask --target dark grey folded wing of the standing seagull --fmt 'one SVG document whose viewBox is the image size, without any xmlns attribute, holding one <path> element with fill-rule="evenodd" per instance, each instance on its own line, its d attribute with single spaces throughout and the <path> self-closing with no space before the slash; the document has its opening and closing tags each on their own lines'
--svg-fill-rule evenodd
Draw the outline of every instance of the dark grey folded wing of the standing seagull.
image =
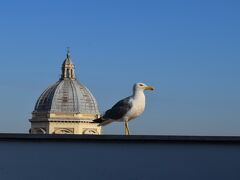
<svg viewBox="0 0 240 180">
<path fill-rule="evenodd" d="M 103 116 L 103 119 L 121 119 L 132 107 L 130 101 L 131 97 L 127 97 L 119 102 L 117 102 L 111 109 L 106 111 Z"/>
</svg>

